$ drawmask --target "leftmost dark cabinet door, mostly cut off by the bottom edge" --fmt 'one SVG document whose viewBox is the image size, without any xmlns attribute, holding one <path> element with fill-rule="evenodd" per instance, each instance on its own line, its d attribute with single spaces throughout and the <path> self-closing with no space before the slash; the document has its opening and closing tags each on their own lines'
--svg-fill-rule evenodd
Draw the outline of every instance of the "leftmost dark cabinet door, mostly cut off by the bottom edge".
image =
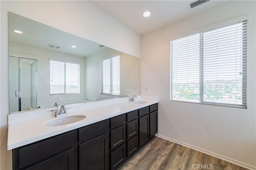
<svg viewBox="0 0 256 170">
<path fill-rule="evenodd" d="M 54 156 L 44 162 L 36 164 L 27 170 L 73 170 L 74 169 L 74 149 L 70 149 L 62 154 Z"/>
</svg>

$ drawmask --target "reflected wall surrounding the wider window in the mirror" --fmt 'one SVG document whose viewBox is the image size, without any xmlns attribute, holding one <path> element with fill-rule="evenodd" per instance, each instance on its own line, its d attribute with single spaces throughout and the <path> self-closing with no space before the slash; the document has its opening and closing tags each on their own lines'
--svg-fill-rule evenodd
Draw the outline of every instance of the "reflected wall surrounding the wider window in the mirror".
<svg viewBox="0 0 256 170">
<path fill-rule="evenodd" d="M 58 51 L 33 47 L 20 43 L 9 42 L 9 50 L 16 53 L 34 55 L 32 59 L 37 59 L 37 106 L 49 105 L 54 103 L 61 104 L 68 101 L 83 100 L 85 97 L 85 57 L 62 53 Z M 80 64 L 80 93 L 79 94 L 62 94 L 50 95 L 50 61 L 51 59 L 68 61 Z M 31 65 L 30 65 L 31 66 Z M 30 68 L 31 71 L 31 68 Z M 31 78 L 31 77 L 30 77 Z M 30 80 L 31 82 L 31 80 Z M 30 85 L 30 106 L 31 85 Z"/>
</svg>

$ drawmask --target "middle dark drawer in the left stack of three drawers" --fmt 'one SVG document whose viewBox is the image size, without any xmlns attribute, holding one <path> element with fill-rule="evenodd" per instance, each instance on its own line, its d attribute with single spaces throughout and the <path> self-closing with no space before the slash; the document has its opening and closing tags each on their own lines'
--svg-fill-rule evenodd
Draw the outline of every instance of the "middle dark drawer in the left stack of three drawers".
<svg viewBox="0 0 256 170">
<path fill-rule="evenodd" d="M 110 131 L 111 150 L 117 148 L 125 142 L 125 125 Z"/>
</svg>

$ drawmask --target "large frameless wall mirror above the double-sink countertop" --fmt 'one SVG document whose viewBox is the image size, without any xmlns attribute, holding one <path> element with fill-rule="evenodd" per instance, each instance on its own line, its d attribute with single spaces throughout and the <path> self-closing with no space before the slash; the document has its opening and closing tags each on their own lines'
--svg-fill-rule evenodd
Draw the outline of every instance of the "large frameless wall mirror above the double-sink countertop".
<svg viewBox="0 0 256 170">
<path fill-rule="evenodd" d="M 140 94 L 140 59 L 8 13 L 10 113 Z"/>
</svg>

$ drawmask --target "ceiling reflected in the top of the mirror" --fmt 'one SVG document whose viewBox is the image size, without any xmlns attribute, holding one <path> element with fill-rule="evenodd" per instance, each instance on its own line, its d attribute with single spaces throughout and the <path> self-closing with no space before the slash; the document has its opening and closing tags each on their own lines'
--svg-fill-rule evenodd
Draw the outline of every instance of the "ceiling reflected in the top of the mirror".
<svg viewBox="0 0 256 170">
<path fill-rule="evenodd" d="M 99 47 L 100 44 L 98 43 L 79 38 L 10 12 L 8 20 L 10 42 L 32 45 L 82 57 L 108 49 L 108 47 Z M 20 30 L 22 34 L 17 34 L 12 30 Z M 48 47 L 49 44 L 58 45 L 60 48 Z M 76 48 L 72 48 L 71 45 L 76 45 Z"/>
</svg>

